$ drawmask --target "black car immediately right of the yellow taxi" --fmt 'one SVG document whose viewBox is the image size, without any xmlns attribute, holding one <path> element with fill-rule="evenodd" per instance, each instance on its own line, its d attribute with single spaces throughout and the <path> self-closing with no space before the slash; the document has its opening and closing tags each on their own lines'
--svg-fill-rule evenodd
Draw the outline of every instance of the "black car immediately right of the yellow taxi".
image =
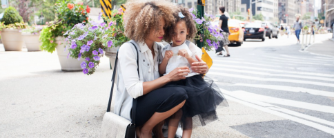
<svg viewBox="0 0 334 138">
<path fill-rule="evenodd" d="M 266 38 L 262 23 L 247 23 L 242 29 L 244 30 L 244 41 L 246 39 L 262 39 L 264 41 Z"/>
</svg>

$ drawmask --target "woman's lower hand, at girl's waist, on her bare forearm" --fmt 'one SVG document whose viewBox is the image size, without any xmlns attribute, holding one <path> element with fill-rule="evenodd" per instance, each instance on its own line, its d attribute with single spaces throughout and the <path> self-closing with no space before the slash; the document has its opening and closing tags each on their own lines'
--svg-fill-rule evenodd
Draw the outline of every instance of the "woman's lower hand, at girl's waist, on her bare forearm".
<svg viewBox="0 0 334 138">
<path fill-rule="evenodd" d="M 186 79 L 186 75 L 188 75 L 190 72 L 189 68 L 187 66 L 182 66 L 175 68 L 171 72 L 166 75 L 170 81 L 179 81 L 181 79 Z"/>
</svg>

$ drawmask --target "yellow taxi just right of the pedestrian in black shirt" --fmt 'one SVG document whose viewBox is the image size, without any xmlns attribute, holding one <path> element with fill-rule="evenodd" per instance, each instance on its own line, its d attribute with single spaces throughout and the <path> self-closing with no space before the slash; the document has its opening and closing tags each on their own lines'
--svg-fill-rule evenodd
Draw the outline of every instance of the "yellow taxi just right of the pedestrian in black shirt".
<svg viewBox="0 0 334 138">
<path fill-rule="evenodd" d="M 228 29 L 230 30 L 230 35 L 228 36 L 230 43 L 236 43 L 237 46 L 242 46 L 242 42 L 244 41 L 244 31 L 242 31 L 239 20 L 229 19 Z"/>
</svg>

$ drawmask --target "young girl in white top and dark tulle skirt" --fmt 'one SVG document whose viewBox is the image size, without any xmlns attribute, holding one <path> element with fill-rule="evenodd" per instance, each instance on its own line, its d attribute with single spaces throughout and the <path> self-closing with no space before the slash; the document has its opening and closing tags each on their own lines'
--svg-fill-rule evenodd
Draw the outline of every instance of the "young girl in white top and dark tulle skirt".
<svg viewBox="0 0 334 138">
<path fill-rule="evenodd" d="M 193 17 L 187 8 L 179 8 L 174 14 L 175 24 L 166 28 L 170 33 L 165 34 L 166 41 L 173 41 L 162 49 L 159 73 L 168 75 L 171 70 L 181 66 L 190 67 L 191 63 L 197 62 L 195 56 L 202 57 L 202 50 L 195 46 L 192 40 L 196 34 Z M 172 31 L 174 30 L 174 31 Z M 207 77 L 206 77 L 207 79 Z M 179 86 L 184 88 L 188 99 L 181 110 L 169 117 L 168 138 L 175 137 L 179 121 L 183 129 L 182 137 L 190 137 L 193 130 L 193 117 L 198 115 L 202 126 L 217 119 L 216 108 L 220 103 L 228 106 L 217 85 L 212 80 L 204 81 L 203 75 L 190 70 L 186 79 L 173 81 L 164 87 Z"/>
</svg>

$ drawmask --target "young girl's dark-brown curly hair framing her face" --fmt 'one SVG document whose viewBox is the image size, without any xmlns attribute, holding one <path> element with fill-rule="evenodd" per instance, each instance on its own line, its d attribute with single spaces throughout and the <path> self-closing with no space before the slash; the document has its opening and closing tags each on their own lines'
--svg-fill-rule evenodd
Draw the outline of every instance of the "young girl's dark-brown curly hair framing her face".
<svg viewBox="0 0 334 138">
<path fill-rule="evenodd" d="M 179 17 L 179 12 L 184 14 L 184 18 Z M 175 37 L 175 31 L 176 25 L 179 21 L 185 21 L 187 26 L 187 40 L 192 41 L 192 39 L 195 37 L 197 29 L 196 25 L 194 23 L 193 15 L 189 12 L 188 8 L 183 8 L 181 6 L 178 6 L 177 10 L 173 13 L 173 16 L 175 18 L 175 23 L 173 23 L 171 26 L 166 28 L 166 34 L 164 36 L 164 40 L 166 42 L 170 42 L 173 40 L 173 37 Z"/>
</svg>

